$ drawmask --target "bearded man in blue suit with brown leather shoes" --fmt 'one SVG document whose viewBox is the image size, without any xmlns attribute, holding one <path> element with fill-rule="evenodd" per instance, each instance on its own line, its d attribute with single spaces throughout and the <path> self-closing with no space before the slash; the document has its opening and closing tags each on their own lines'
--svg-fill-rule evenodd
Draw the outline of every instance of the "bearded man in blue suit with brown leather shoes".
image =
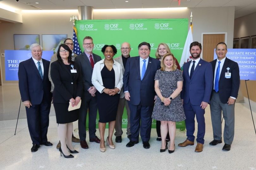
<svg viewBox="0 0 256 170">
<path fill-rule="evenodd" d="M 212 90 L 212 67 L 211 64 L 200 58 L 202 45 L 198 42 L 190 44 L 192 60 L 183 65 L 183 87 L 181 99 L 186 115 L 185 123 L 187 139 L 179 146 L 194 145 L 195 116 L 198 122 L 197 146 L 195 152 L 203 151 L 205 122 L 205 108 L 210 102 Z"/>
</svg>

